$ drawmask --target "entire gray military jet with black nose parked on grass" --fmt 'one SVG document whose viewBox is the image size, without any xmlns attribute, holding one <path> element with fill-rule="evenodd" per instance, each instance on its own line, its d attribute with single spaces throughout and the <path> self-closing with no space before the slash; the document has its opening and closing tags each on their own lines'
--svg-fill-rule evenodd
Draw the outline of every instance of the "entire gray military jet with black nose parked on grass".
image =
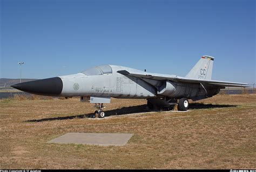
<svg viewBox="0 0 256 172">
<path fill-rule="evenodd" d="M 103 103 L 110 103 L 110 97 L 147 99 L 150 109 L 178 105 L 178 110 L 186 111 L 188 99 L 197 101 L 217 95 L 225 87 L 247 85 L 211 80 L 213 60 L 212 56 L 202 56 L 185 77 L 102 65 L 74 75 L 23 82 L 11 87 L 36 95 L 79 96 L 81 102 L 88 100 L 98 105 L 95 114 L 99 118 L 105 117 Z"/>
</svg>

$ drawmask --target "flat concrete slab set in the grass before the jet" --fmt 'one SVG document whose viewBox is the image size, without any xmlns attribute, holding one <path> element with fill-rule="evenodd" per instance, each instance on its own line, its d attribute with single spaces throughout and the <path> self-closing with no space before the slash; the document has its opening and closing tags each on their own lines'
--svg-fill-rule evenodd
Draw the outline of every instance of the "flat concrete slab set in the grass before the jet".
<svg viewBox="0 0 256 172">
<path fill-rule="evenodd" d="M 48 143 L 124 146 L 131 139 L 132 135 L 129 133 L 66 133 L 48 141 Z"/>
</svg>

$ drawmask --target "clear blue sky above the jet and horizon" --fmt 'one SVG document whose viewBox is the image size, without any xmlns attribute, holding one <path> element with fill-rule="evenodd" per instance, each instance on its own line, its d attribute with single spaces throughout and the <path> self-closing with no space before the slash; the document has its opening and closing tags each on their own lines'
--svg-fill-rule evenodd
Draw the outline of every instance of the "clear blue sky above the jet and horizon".
<svg viewBox="0 0 256 172">
<path fill-rule="evenodd" d="M 255 1 L 0 0 L 0 78 L 47 78 L 99 64 L 255 82 Z"/>
</svg>

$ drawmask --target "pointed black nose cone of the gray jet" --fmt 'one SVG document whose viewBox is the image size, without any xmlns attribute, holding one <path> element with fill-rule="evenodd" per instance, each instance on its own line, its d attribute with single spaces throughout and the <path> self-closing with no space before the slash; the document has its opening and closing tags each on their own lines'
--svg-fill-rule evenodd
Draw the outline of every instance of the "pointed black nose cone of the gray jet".
<svg viewBox="0 0 256 172">
<path fill-rule="evenodd" d="M 11 85 L 11 87 L 36 95 L 57 96 L 62 92 L 63 82 L 59 77 L 52 77 L 43 80 L 22 82 Z"/>
</svg>

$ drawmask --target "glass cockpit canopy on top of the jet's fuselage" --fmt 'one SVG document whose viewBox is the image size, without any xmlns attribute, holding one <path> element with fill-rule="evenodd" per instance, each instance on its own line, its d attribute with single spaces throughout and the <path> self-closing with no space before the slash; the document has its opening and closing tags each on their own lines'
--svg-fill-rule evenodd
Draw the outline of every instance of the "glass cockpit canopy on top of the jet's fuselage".
<svg viewBox="0 0 256 172">
<path fill-rule="evenodd" d="M 112 74 L 112 68 L 109 65 L 101 65 L 94 68 L 87 69 L 82 71 L 85 75 L 103 75 L 103 74 Z"/>
</svg>

